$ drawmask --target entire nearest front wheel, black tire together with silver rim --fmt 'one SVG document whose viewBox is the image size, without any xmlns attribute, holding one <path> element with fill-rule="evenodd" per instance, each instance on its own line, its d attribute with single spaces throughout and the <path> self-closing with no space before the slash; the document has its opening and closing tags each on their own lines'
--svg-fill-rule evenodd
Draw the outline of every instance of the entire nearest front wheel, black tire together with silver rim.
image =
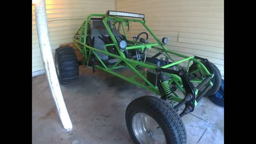
<svg viewBox="0 0 256 144">
<path fill-rule="evenodd" d="M 185 144 L 185 126 L 177 112 L 164 100 L 143 96 L 126 108 L 126 126 L 134 143 Z"/>
</svg>

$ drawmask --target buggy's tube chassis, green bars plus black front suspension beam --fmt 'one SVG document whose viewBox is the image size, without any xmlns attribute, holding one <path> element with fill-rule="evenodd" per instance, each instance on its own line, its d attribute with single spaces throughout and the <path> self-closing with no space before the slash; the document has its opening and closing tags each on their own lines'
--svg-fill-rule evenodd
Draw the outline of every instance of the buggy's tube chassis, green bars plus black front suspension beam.
<svg viewBox="0 0 256 144">
<path fill-rule="evenodd" d="M 88 28 L 88 24 L 90 22 L 90 18 L 91 17 L 101 17 L 103 18 L 103 24 L 105 25 L 109 36 L 111 37 L 112 41 L 114 43 L 112 44 L 106 44 L 104 46 L 104 50 L 99 50 L 97 48 L 91 47 L 89 45 L 86 44 L 86 39 L 87 39 L 87 28 Z M 162 66 L 162 67 L 157 67 L 156 65 L 154 65 L 153 63 L 143 63 L 142 61 L 137 61 L 137 60 L 132 60 L 129 58 L 126 58 L 123 51 L 121 51 L 121 49 L 119 48 L 118 42 L 116 41 L 115 36 L 113 35 L 110 27 L 107 25 L 107 20 L 111 20 L 113 21 L 113 23 L 116 22 L 120 22 L 122 29 L 123 29 L 123 33 L 124 36 L 127 39 L 127 35 L 124 29 L 124 23 L 125 22 L 139 22 L 141 23 L 148 31 L 149 33 L 154 37 L 154 39 L 157 41 L 157 43 L 147 43 L 147 44 L 142 44 L 139 43 L 138 45 L 132 45 L 132 44 L 128 44 L 126 47 L 126 50 L 132 50 L 132 49 L 137 49 L 137 50 L 150 50 L 152 47 L 154 47 L 154 49 L 160 51 L 159 53 L 157 53 L 156 55 L 154 55 L 152 58 L 156 58 L 159 55 L 161 55 L 162 53 L 164 53 L 165 55 L 167 55 L 167 57 L 172 60 L 170 54 L 173 55 L 177 55 L 178 57 L 184 58 L 182 60 L 179 61 L 173 61 L 172 63 Z M 114 25 L 115 27 L 115 25 Z M 186 105 L 186 108 L 182 111 L 182 113 L 180 113 L 180 116 L 182 117 L 185 114 L 190 113 L 191 111 L 194 110 L 195 106 L 197 105 L 197 102 L 203 97 L 203 95 L 211 89 L 213 83 L 213 70 L 211 68 L 211 65 L 209 63 L 209 61 L 207 59 L 204 58 L 200 58 L 197 56 L 193 56 L 193 57 L 188 57 L 186 55 L 182 55 L 176 52 L 172 52 L 170 50 L 166 49 L 166 46 L 156 37 L 156 35 L 153 33 L 153 31 L 151 31 L 149 29 L 149 27 L 146 25 L 146 21 L 143 20 L 138 20 L 138 19 L 129 19 L 129 18 L 120 18 L 120 17 L 111 17 L 108 14 L 90 14 L 87 16 L 86 20 L 82 23 L 82 26 L 78 29 L 76 35 L 73 38 L 73 41 L 75 43 L 75 45 L 78 47 L 78 49 L 82 52 L 83 56 L 84 56 L 84 64 L 86 66 L 89 65 L 90 60 L 91 60 L 91 56 L 93 55 L 93 58 L 98 59 L 98 61 L 100 62 L 100 65 L 93 65 L 93 70 L 94 67 L 104 70 L 110 74 L 113 74 L 115 76 L 118 76 L 119 78 L 124 79 L 125 81 L 128 81 L 130 83 L 133 83 L 135 85 L 138 85 L 144 89 L 147 89 L 151 92 L 154 92 L 157 95 L 160 95 L 162 99 L 164 100 L 171 100 L 172 101 L 172 105 L 173 102 L 178 103 L 177 105 L 173 105 L 174 109 L 176 109 L 178 111 L 179 107 L 182 105 Z M 133 41 L 131 41 L 133 42 Z M 107 46 L 115 46 L 119 55 L 110 53 L 107 51 L 106 47 Z M 106 64 L 99 58 L 99 56 L 97 55 L 96 51 L 109 55 L 111 57 L 114 57 L 116 59 L 119 59 L 112 67 L 107 67 Z M 207 65 L 209 67 L 209 69 L 207 69 L 205 67 L 205 65 L 203 65 L 203 63 L 199 60 L 202 60 L 205 62 L 205 65 Z M 181 62 L 185 62 L 188 61 L 188 67 L 187 68 L 182 68 L 179 66 L 179 63 Z M 191 73 L 188 73 L 189 68 L 190 68 L 190 63 L 191 61 L 193 61 L 194 63 L 197 64 L 197 69 L 192 71 Z M 118 66 L 119 64 L 122 63 L 122 66 Z M 128 67 L 131 70 L 133 70 L 136 75 L 131 76 L 131 77 L 125 77 L 122 74 L 118 74 L 114 71 L 114 69 L 117 68 L 122 68 L 122 67 Z M 154 86 L 153 84 L 151 84 L 148 79 L 145 77 L 145 75 L 147 73 L 142 73 L 141 71 L 137 70 L 134 66 L 141 66 L 141 67 L 145 67 L 148 69 L 153 69 L 156 70 L 157 72 L 157 86 Z M 179 71 L 175 71 L 175 70 L 170 70 L 168 69 L 169 67 L 172 66 L 177 66 L 179 67 Z M 203 74 L 205 76 L 205 79 L 198 79 L 198 78 L 193 78 L 191 77 L 191 75 L 197 73 L 197 71 L 203 71 Z M 171 94 L 166 94 L 166 92 L 163 90 L 163 87 L 161 86 L 161 82 L 164 81 L 162 78 L 162 74 L 165 73 L 167 75 L 169 75 L 171 77 L 171 79 L 169 79 L 168 81 L 168 85 L 170 87 L 171 84 L 174 84 L 177 89 L 170 89 Z M 141 83 L 136 81 L 135 78 L 140 77 L 145 83 Z M 193 83 L 198 83 L 198 86 L 194 86 Z M 203 87 L 205 87 L 205 89 L 203 91 L 199 91 L 200 89 L 202 89 Z M 180 90 L 183 95 L 184 98 L 179 97 L 179 95 L 175 92 L 177 90 Z"/>
</svg>

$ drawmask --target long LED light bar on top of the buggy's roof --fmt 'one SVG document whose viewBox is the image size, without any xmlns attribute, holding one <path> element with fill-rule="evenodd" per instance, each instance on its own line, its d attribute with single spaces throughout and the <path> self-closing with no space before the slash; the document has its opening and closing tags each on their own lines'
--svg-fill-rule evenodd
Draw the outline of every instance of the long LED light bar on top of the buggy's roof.
<svg viewBox="0 0 256 144">
<path fill-rule="evenodd" d="M 140 18 L 145 19 L 145 14 L 139 13 L 130 13 L 130 12 L 119 12 L 119 11 L 107 11 L 107 15 L 109 16 L 119 16 L 119 17 L 131 17 L 131 18 Z"/>
</svg>

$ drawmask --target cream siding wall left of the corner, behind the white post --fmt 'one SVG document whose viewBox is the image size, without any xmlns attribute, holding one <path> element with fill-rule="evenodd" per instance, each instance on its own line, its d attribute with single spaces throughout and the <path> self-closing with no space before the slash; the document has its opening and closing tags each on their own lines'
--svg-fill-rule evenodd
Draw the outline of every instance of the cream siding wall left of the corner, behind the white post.
<svg viewBox="0 0 256 144">
<path fill-rule="evenodd" d="M 46 0 L 46 13 L 53 53 L 60 44 L 73 42 L 86 16 L 91 13 L 106 13 L 115 10 L 115 0 Z M 35 11 L 32 6 L 32 75 L 40 74 L 44 70 L 39 49 Z"/>
</svg>

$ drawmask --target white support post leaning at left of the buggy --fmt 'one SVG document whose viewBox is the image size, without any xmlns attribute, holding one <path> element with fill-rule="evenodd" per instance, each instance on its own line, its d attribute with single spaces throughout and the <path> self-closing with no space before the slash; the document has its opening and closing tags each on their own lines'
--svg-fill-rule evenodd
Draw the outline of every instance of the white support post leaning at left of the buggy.
<svg viewBox="0 0 256 144">
<path fill-rule="evenodd" d="M 52 49 L 47 27 L 45 0 L 37 0 L 34 6 L 39 47 L 48 82 L 52 91 L 52 97 L 55 101 L 60 116 L 60 120 L 62 122 L 64 129 L 71 130 L 73 128 L 73 125 L 68 115 L 65 101 L 63 100 L 63 96 L 60 90 L 60 84 L 53 62 Z"/>
</svg>

